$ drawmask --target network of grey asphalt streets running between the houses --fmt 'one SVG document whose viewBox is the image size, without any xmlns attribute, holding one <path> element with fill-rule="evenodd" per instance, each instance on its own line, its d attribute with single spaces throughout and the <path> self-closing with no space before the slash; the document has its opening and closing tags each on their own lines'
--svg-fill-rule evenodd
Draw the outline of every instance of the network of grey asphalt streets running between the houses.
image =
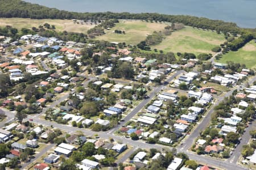
<svg viewBox="0 0 256 170">
<path fill-rule="evenodd" d="M 171 82 L 171 80 L 173 80 L 177 75 L 179 75 L 181 73 L 183 73 L 183 71 L 177 71 L 177 73 L 172 75 L 167 81 Z M 254 80 L 256 80 L 256 76 L 254 76 L 252 79 L 250 79 L 249 83 L 251 84 L 252 82 L 254 82 Z M 150 98 L 142 100 L 142 102 L 140 104 L 138 104 L 137 107 L 135 107 L 133 109 L 133 111 L 131 111 L 130 114 L 128 114 L 124 118 L 125 121 L 121 122 L 119 127 L 122 126 L 122 125 L 125 125 L 126 122 L 129 121 L 136 113 L 138 113 L 144 107 L 144 105 L 146 105 L 158 92 L 160 92 L 160 90 L 162 90 L 163 87 L 164 87 L 163 85 L 158 86 L 158 87 L 154 87 L 152 92 L 148 95 Z M 242 86 L 241 88 L 245 88 L 245 86 Z M 238 88 L 238 90 L 239 89 L 240 88 Z M 232 95 L 233 91 L 234 90 L 231 90 L 231 91 L 227 92 L 224 96 L 220 97 L 220 99 L 218 99 L 214 103 L 214 105 L 208 111 L 205 118 L 201 121 L 201 123 L 197 126 L 197 128 L 194 131 L 192 131 L 191 135 L 189 135 L 187 140 L 185 142 L 183 142 L 183 146 L 177 148 L 178 152 L 184 152 L 185 154 L 187 154 L 189 156 L 190 159 L 194 159 L 194 160 L 197 160 L 198 162 L 205 163 L 205 164 L 208 164 L 208 165 L 215 165 L 215 166 L 220 167 L 220 168 L 234 169 L 234 170 L 235 169 L 246 169 L 246 168 L 241 167 L 240 165 L 237 165 L 237 160 L 240 156 L 242 145 L 246 145 L 246 143 L 249 141 L 249 138 L 250 138 L 249 131 L 250 131 L 250 129 L 254 128 L 254 126 L 256 124 L 255 121 L 253 122 L 252 125 L 250 125 L 250 127 L 248 129 L 246 129 L 245 134 L 243 134 L 241 144 L 238 145 L 237 149 L 233 152 L 233 155 L 225 162 L 223 160 L 220 160 L 220 159 L 210 158 L 209 156 L 196 155 L 196 154 L 193 154 L 193 153 L 188 151 L 188 149 L 191 147 L 191 145 L 193 145 L 193 143 L 195 142 L 195 139 L 199 136 L 200 131 L 203 131 L 209 125 L 210 115 L 213 113 L 214 106 L 216 106 L 218 103 L 220 103 L 222 100 L 224 100 L 224 97 L 228 97 L 228 96 Z M 42 113 L 40 113 L 40 114 L 45 113 L 48 108 L 54 108 L 61 101 L 67 99 L 68 95 L 69 94 L 65 94 L 64 96 L 60 97 L 60 99 L 53 102 L 49 107 L 43 109 Z M 6 109 L 3 109 L 3 111 L 8 116 L 7 121 L 14 118 L 14 115 L 15 115 L 14 112 L 9 112 Z M 110 130 L 111 133 L 110 133 L 110 131 L 108 131 L 108 132 L 95 132 L 95 131 L 91 131 L 89 129 L 76 128 L 76 127 L 72 127 L 72 126 L 69 126 L 69 125 L 57 124 L 56 122 L 42 120 L 42 119 L 39 118 L 40 114 L 36 114 L 36 115 L 33 115 L 33 116 L 28 115 L 26 120 L 29 120 L 30 118 L 32 118 L 33 121 L 36 124 L 42 124 L 44 126 L 58 128 L 58 129 L 67 131 L 68 133 L 74 133 L 75 131 L 82 131 L 87 136 L 93 136 L 95 134 L 98 134 L 98 136 L 100 138 L 108 139 L 108 138 L 111 137 L 115 141 L 122 141 L 123 143 L 127 143 L 127 145 L 134 146 L 133 150 L 135 150 L 135 148 L 148 148 L 148 149 L 149 148 L 156 148 L 158 150 L 162 150 L 162 148 L 171 148 L 171 147 L 162 146 L 162 145 L 151 145 L 151 144 L 145 143 L 143 141 L 133 141 L 130 138 L 122 138 L 122 137 L 118 137 L 118 136 L 113 135 L 113 131 L 117 130 L 119 127 L 114 128 L 114 130 L 113 129 Z M 26 120 L 24 120 L 24 121 L 26 121 Z M 4 124 L 4 123 L 2 123 L 2 124 Z M 2 124 L 1 124 L 1 126 L 3 126 Z M 49 146 L 47 146 L 47 148 L 49 149 L 53 146 L 54 145 L 49 145 Z M 46 149 L 46 150 L 48 150 L 48 149 Z M 36 154 L 35 159 L 42 156 L 46 152 L 46 150 L 43 150 L 40 153 Z M 123 156 L 122 159 L 119 159 L 118 162 L 122 162 L 123 160 L 126 160 L 127 158 L 129 158 L 130 154 L 132 154 L 132 151 L 129 151 L 125 156 Z M 28 164 L 30 164 L 30 163 L 24 164 L 23 166 L 25 167 L 25 165 L 28 165 Z"/>
</svg>

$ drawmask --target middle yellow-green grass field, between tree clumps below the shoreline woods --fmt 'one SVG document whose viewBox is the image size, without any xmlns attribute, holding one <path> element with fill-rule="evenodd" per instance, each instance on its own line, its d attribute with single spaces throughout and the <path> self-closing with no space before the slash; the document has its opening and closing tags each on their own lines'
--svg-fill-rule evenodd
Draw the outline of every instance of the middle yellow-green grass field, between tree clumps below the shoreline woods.
<svg viewBox="0 0 256 170">
<path fill-rule="evenodd" d="M 126 44 L 137 45 L 146 39 L 154 31 L 162 31 L 167 24 L 147 23 L 139 20 L 119 20 L 119 23 L 106 34 L 96 37 L 97 40 L 106 40 L 110 42 L 126 42 Z M 114 33 L 115 29 L 125 31 L 125 34 Z"/>
</svg>

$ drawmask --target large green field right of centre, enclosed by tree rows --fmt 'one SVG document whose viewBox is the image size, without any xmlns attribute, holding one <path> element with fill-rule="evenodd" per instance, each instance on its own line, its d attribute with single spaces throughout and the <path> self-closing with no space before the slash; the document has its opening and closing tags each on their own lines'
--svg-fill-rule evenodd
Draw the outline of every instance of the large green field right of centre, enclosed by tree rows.
<svg viewBox="0 0 256 170">
<path fill-rule="evenodd" d="M 185 27 L 167 36 L 160 44 L 151 49 L 163 50 L 164 52 L 188 52 L 188 53 L 212 53 L 214 46 L 225 41 L 224 35 L 213 31 L 204 31 L 192 27 Z"/>
</svg>

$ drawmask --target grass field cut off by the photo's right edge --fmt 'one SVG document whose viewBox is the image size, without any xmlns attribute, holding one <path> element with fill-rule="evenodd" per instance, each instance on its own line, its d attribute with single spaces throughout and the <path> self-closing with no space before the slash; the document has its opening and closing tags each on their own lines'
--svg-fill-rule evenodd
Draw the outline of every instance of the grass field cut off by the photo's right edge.
<svg viewBox="0 0 256 170">
<path fill-rule="evenodd" d="M 248 42 L 245 46 L 237 52 L 229 52 L 222 56 L 222 58 L 215 60 L 216 62 L 225 63 L 233 61 L 237 63 L 244 63 L 248 68 L 256 68 L 256 43 L 254 40 Z"/>
</svg>

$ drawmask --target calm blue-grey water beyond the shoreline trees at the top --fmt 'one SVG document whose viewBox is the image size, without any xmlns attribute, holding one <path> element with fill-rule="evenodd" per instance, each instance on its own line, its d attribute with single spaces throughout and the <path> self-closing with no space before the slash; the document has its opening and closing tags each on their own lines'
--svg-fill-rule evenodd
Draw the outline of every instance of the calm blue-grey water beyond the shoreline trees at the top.
<svg viewBox="0 0 256 170">
<path fill-rule="evenodd" d="M 193 15 L 256 27 L 255 0 L 25 0 L 47 7 L 76 12 L 158 12 Z"/>
</svg>

